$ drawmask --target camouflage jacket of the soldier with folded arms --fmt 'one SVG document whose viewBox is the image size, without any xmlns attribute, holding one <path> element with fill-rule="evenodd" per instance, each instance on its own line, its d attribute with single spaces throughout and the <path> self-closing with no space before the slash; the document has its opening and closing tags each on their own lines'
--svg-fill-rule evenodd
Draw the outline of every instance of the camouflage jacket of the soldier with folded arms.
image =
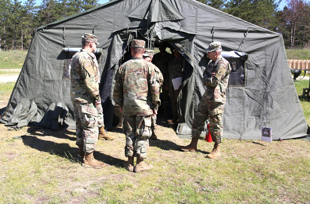
<svg viewBox="0 0 310 204">
<path fill-rule="evenodd" d="M 206 102 L 226 103 L 225 91 L 231 70 L 229 62 L 222 56 L 215 62 L 210 60 L 203 72 L 202 78 L 203 85 L 207 86 L 206 92 L 204 93 L 207 99 Z M 213 72 L 215 72 L 215 76 L 211 77 Z"/>
</svg>

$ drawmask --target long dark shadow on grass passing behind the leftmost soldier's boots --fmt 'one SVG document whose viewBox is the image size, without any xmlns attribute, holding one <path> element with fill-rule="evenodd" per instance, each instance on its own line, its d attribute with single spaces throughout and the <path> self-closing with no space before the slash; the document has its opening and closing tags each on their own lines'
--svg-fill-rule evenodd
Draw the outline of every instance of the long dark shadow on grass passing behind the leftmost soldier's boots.
<svg viewBox="0 0 310 204">
<path fill-rule="evenodd" d="M 71 147 L 67 143 L 56 143 L 48 140 L 41 140 L 38 137 L 32 135 L 26 135 L 23 137 L 24 145 L 27 145 L 33 149 L 50 153 L 52 155 L 58 155 L 63 158 L 70 159 L 72 163 L 75 163 L 75 158 L 78 155 L 78 147 Z M 124 160 L 115 158 L 102 152 L 94 152 L 94 157 L 99 160 L 115 167 L 122 167 Z"/>
</svg>

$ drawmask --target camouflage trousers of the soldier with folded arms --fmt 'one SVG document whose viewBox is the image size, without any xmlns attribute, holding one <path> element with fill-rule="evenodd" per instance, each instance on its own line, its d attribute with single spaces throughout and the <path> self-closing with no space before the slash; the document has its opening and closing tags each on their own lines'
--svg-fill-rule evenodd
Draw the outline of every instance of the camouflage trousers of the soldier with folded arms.
<svg viewBox="0 0 310 204">
<path fill-rule="evenodd" d="M 201 98 L 197 113 L 194 116 L 192 124 L 192 134 L 193 138 L 199 138 L 201 132 L 204 129 L 205 122 L 210 118 L 210 133 L 212 141 L 219 144 L 222 142 L 223 137 L 223 121 L 222 113 L 224 111 L 225 104 L 220 102 L 205 102 Z"/>
</svg>

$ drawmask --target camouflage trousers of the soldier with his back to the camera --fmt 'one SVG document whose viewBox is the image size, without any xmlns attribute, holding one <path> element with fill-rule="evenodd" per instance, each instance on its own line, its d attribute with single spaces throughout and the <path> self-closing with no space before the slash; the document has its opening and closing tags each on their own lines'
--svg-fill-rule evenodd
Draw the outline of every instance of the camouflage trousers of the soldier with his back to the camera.
<svg viewBox="0 0 310 204">
<path fill-rule="evenodd" d="M 152 135 L 151 115 L 124 115 L 123 132 L 126 135 L 125 156 L 146 158 L 148 138 Z"/>
</svg>

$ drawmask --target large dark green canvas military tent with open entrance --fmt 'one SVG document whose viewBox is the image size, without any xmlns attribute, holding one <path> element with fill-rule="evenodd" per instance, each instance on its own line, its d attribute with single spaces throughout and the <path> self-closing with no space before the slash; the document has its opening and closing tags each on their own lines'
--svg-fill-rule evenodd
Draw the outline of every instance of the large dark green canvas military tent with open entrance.
<svg viewBox="0 0 310 204">
<path fill-rule="evenodd" d="M 281 34 L 194 0 L 115 0 L 36 28 L 2 115 L 4 121 L 10 121 L 13 116 L 16 119 L 19 112 L 14 109 L 31 110 L 33 115 L 36 109 L 25 108 L 24 104 L 19 105 L 24 109 L 16 108 L 26 98 L 22 103 L 37 108 L 30 124 L 75 128 L 68 67 L 74 52 L 81 48 L 84 33 L 99 38 L 96 56 L 108 127 L 112 125 L 114 112 L 111 97 L 114 74 L 132 39 L 144 39 L 148 48 L 154 43 L 169 43 L 187 61 L 178 101 L 177 134 L 180 138 L 188 137 L 205 91 L 201 82 L 208 61 L 205 49 L 210 42 L 220 41 L 233 68 L 227 89 L 224 137 L 260 139 L 261 127 L 266 126 L 272 128 L 276 140 L 308 134 Z"/>
</svg>

